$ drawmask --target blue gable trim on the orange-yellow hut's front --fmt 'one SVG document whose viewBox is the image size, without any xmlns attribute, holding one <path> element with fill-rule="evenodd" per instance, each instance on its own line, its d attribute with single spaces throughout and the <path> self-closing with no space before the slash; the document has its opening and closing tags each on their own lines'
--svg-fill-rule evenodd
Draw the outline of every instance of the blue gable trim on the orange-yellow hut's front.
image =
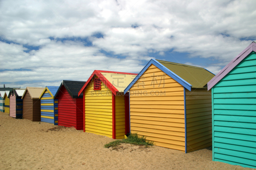
<svg viewBox="0 0 256 170">
<path fill-rule="evenodd" d="M 172 72 L 171 70 L 167 69 L 163 64 L 159 63 L 155 59 L 151 59 L 148 64 L 140 71 L 140 73 L 132 80 L 132 82 L 124 89 L 124 94 L 136 83 L 136 81 L 140 78 L 140 76 L 148 69 L 148 67 L 154 64 L 158 69 L 162 70 L 165 74 L 173 78 L 175 81 L 183 85 L 186 89 L 191 91 L 192 85 L 190 85 L 188 82 L 180 78 L 177 74 Z"/>
</svg>

